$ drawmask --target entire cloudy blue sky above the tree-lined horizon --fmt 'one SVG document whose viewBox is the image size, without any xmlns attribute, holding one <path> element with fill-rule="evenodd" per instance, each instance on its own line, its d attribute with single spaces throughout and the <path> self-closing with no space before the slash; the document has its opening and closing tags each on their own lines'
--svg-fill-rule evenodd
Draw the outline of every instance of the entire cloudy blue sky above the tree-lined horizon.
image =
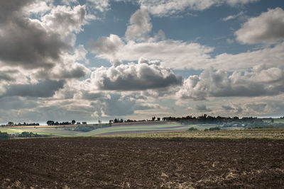
<svg viewBox="0 0 284 189">
<path fill-rule="evenodd" d="M 282 0 L 0 1 L 0 123 L 284 116 Z"/>
</svg>

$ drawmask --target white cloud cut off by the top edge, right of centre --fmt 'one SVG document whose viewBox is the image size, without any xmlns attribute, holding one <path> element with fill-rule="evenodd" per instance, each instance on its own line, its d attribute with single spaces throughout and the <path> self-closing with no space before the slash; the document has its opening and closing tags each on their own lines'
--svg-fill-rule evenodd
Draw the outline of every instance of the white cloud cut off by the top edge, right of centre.
<svg viewBox="0 0 284 189">
<path fill-rule="evenodd" d="M 143 8 L 147 8 L 156 16 L 170 16 L 185 11 L 187 9 L 203 11 L 211 6 L 227 4 L 229 6 L 239 6 L 256 2 L 258 0 L 138 0 Z"/>
</svg>

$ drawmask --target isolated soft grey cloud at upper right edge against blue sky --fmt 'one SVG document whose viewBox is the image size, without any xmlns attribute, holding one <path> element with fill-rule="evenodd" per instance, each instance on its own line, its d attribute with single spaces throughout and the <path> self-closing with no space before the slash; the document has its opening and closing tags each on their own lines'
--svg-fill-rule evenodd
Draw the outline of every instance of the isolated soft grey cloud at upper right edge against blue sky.
<svg viewBox="0 0 284 189">
<path fill-rule="evenodd" d="M 284 11 L 278 7 L 268 9 L 260 16 L 249 18 L 241 29 L 237 30 L 236 39 L 245 44 L 275 43 L 284 40 Z"/>
</svg>

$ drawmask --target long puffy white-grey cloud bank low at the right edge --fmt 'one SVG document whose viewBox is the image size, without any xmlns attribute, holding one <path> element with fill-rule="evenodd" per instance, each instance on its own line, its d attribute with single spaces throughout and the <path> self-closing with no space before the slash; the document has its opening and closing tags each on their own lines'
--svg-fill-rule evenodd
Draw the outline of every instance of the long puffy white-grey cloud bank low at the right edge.
<svg viewBox="0 0 284 189">
<path fill-rule="evenodd" d="M 207 69 L 200 76 L 190 76 L 177 93 L 179 98 L 204 100 L 207 97 L 275 96 L 284 92 L 284 71 L 256 67 L 250 72 Z"/>
</svg>

